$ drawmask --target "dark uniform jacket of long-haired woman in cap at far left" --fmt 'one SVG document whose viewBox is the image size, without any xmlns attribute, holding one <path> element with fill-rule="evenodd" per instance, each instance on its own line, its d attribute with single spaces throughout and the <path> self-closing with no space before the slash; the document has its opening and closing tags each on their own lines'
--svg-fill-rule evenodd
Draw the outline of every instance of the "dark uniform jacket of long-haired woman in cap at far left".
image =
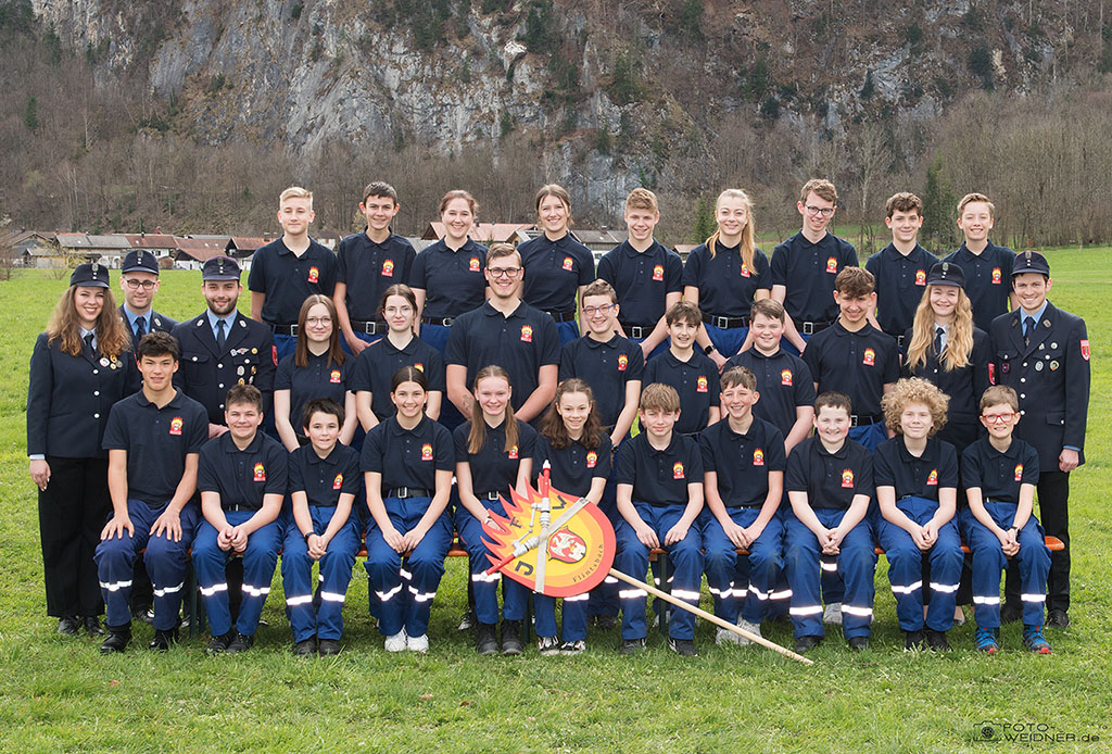
<svg viewBox="0 0 1112 754">
<path fill-rule="evenodd" d="M 101 448 L 112 405 L 139 389 L 135 356 L 70 356 L 39 335 L 27 388 L 27 455 L 106 458 Z"/>
</svg>

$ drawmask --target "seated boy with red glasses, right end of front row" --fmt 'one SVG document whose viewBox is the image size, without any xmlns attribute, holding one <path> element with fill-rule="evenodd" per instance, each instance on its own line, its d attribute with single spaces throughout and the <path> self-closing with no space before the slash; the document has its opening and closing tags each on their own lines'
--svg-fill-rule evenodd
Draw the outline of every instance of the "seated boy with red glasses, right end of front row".
<svg viewBox="0 0 1112 754">
<path fill-rule="evenodd" d="M 1006 385 L 981 396 L 981 424 L 987 437 L 962 454 L 962 485 L 970 505 L 959 514 L 962 536 L 973 550 L 973 616 L 976 648 L 1000 651 L 1000 575 L 1013 558 L 1023 593 L 1023 644 L 1050 654 L 1043 636 L 1043 605 L 1050 550 L 1032 513 L 1039 483 L 1039 453 L 1012 435 L 1020 421 L 1020 400 Z"/>
</svg>

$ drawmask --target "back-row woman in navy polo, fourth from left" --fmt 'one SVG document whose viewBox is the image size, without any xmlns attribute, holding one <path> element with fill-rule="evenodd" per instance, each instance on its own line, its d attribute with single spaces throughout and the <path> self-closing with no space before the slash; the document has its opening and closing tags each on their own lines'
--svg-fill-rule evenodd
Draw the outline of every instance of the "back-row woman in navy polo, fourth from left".
<svg viewBox="0 0 1112 754">
<path fill-rule="evenodd" d="M 544 232 L 517 247 L 525 267 L 522 298 L 553 318 L 563 345 L 580 335 L 576 305 L 595 279 L 595 257 L 568 232 L 572 197 L 567 189 L 556 183 L 542 186 L 534 204 Z"/>
</svg>

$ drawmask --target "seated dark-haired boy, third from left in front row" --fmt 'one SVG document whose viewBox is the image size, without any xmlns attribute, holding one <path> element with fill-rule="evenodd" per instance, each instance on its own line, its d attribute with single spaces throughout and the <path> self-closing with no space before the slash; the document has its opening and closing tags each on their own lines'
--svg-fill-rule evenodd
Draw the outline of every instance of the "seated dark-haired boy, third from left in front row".
<svg viewBox="0 0 1112 754">
<path fill-rule="evenodd" d="M 289 455 L 294 520 L 281 554 L 282 591 L 294 654 L 339 654 L 344 599 L 359 552 L 359 517 L 351 503 L 361 489 L 359 454 L 341 445 L 344 408 L 330 398 L 305 404 L 301 426 L 308 445 Z M 289 522 L 287 523 L 289 524 Z M 319 603 L 312 598 L 312 564 L 320 563 Z"/>
</svg>

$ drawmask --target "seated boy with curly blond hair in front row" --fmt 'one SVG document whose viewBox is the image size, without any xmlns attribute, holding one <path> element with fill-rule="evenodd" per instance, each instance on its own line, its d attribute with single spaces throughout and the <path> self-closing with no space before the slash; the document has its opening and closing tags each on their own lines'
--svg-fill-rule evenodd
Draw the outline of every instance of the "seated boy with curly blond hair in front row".
<svg viewBox="0 0 1112 754">
<path fill-rule="evenodd" d="M 942 390 L 917 377 L 901 379 L 881 401 L 884 420 L 896 436 L 881 443 L 873 456 L 883 516 L 876 538 L 888 559 L 905 651 L 950 651 L 946 632 L 954 625 L 964 554 L 954 518 L 957 452 L 935 436 L 946 423 L 949 403 Z M 924 560 L 931 566 L 925 621 Z"/>
</svg>

